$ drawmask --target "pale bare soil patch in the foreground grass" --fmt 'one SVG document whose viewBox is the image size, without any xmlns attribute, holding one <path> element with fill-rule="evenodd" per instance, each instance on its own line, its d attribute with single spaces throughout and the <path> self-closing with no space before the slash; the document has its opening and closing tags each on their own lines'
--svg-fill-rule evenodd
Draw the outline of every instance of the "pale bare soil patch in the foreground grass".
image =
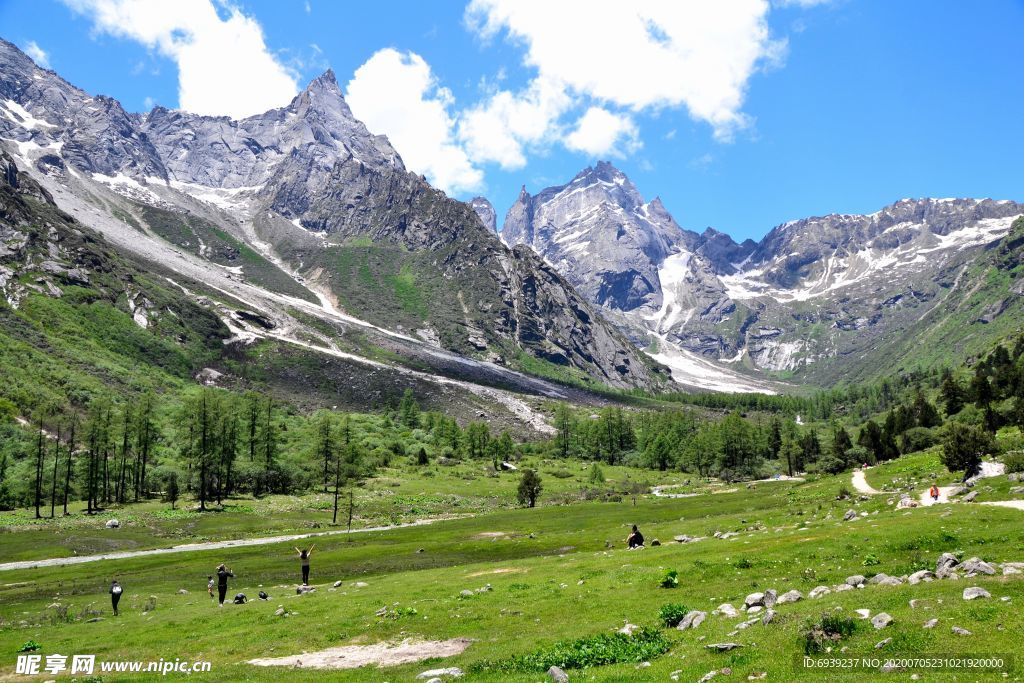
<svg viewBox="0 0 1024 683">
<path fill-rule="evenodd" d="M 342 645 L 329 647 L 318 652 L 250 659 L 249 664 L 257 667 L 292 667 L 294 669 L 358 669 L 372 665 L 396 667 L 402 664 L 423 661 L 431 657 L 451 657 L 462 654 L 472 642 L 468 638 L 452 638 L 451 640 L 407 638 L 397 644 Z"/>
</svg>

